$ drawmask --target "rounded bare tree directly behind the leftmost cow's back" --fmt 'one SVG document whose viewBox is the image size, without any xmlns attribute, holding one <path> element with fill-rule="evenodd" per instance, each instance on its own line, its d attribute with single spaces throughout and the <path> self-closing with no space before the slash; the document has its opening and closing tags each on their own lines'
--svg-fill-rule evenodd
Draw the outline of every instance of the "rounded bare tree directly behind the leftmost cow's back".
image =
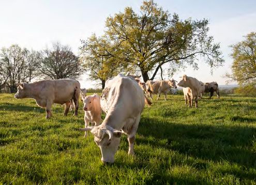
<svg viewBox="0 0 256 185">
<path fill-rule="evenodd" d="M 44 79 L 78 78 L 83 73 L 79 57 L 67 45 L 55 42 L 41 55 L 39 72 Z"/>
</svg>

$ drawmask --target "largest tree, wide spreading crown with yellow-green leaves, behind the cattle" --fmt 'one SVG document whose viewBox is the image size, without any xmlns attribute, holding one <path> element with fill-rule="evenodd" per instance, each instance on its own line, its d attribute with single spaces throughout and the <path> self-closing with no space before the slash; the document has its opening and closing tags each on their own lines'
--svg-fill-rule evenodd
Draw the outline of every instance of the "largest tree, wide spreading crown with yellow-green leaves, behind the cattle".
<svg viewBox="0 0 256 185">
<path fill-rule="evenodd" d="M 208 36 L 208 21 L 180 20 L 171 16 L 153 1 L 144 1 L 140 13 L 125 8 L 114 17 L 107 18 L 106 27 L 111 41 L 115 41 L 126 66 L 138 66 L 143 80 L 153 80 L 164 64 L 170 69 L 192 65 L 195 59 L 204 57 L 211 67 L 223 63 L 220 45 Z M 110 41 L 110 42 L 111 42 Z M 152 76 L 149 78 L 149 73 Z"/>
</svg>

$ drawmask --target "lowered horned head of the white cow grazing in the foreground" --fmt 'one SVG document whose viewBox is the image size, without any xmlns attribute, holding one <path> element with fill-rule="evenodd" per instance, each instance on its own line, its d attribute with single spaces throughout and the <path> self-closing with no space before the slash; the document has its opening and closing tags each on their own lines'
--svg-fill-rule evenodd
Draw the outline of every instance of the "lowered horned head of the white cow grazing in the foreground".
<svg viewBox="0 0 256 185">
<path fill-rule="evenodd" d="M 115 161 L 115 153 L 120 144 L 122 132 L 113 129 L 110 126 L 87 127 L 80 129 L 81 131 L 91 131 L 94 134 L 94 141 L 101 151 L 101 161 L 113 163 Z"/>
</svg>

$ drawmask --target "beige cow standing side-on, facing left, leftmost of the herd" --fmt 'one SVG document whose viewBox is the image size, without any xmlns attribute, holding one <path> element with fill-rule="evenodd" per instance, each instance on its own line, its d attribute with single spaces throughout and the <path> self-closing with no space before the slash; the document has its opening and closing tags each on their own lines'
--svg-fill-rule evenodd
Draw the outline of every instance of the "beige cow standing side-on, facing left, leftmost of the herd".
<svg viewBox="0 0 256 185">
<path fill-rule="evenodd" d="M 53 103 L 66 104 L 64 115 L 68 114 L 71 100 L 74 101 L 76 110 L 74 115 L 78 115 L 80 95 L 80 83 L 74 79 L 59 79 L 59 80 L 42 80 L 34 83 L 20 83 L 18 91 L 14 95 L 17 99 L 33 98 L 37 105 L 45 107 L 47 116 L 50 118 L 51 107 Z"/>
</svg>

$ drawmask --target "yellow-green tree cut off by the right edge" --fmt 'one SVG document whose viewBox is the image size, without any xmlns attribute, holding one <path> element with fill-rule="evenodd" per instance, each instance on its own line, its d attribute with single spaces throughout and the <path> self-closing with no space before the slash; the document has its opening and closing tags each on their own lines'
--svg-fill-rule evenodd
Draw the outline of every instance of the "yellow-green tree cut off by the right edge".
<svg viewBox="0 0 256 185">
<path fill-rule="evenodd" d="M 251 32 L 231 48 L 232 74 L 226 76 L 240 85 L 256 85 L 256 32 Z"/>
</svg>

